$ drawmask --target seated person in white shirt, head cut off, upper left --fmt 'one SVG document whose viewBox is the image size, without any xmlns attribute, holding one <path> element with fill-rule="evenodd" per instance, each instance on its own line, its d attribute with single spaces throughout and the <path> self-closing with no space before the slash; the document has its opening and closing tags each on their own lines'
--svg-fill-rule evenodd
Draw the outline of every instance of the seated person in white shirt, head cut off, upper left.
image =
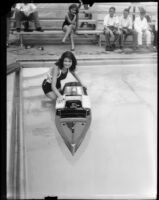
<svg viewBox="0 0 159 200">
<path fill-rule="evenodd" d="M 16 20 L 16 29 L 17 32 L 21 31 L 21 22 L 22 21 L 34 21 L 36 31 L 43 31 L 38 17 L 37 7 L 33 3 L 17 3 L 15 7 L 15 20 Z M 24 31 L 27 30 L 25 28 Z"/>
</svg>

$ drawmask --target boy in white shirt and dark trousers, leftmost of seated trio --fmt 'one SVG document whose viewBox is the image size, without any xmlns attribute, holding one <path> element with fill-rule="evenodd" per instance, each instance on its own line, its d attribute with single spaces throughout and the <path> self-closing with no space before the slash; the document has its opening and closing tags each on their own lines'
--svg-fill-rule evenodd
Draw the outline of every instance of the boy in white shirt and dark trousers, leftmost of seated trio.
<svg viewBox="0 0 159 200">
<path fill-rule="evenodd" d="M 106 51 L 113 51 L 115 49 L 115 43 L 118 41 L 120 37 L 119 31 L 119 19 L 115 15 L 115 8 L 109 8 L 109 14 L 104 17 L 104 34 L 105 34 L 105 50 Z M 110 38 L 113 38 L 113 44 L 110 43 Z"/>
</svg>

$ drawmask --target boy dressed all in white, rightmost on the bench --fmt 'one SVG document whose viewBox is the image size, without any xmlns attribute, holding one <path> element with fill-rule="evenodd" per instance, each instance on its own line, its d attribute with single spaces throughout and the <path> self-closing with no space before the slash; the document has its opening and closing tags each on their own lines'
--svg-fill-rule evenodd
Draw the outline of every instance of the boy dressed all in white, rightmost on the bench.
<svg viewBox="0 0 159 200">
<path fill-rule="evenodd" d="M 134 28 L 137 31 L 137 41 L 139 47 L 142 46 L 142 36 L 146 36 L 146 45 L 150 47 L 151 45 L 151 32 L 149 30 L 149 25 L 147 19 L 145 18 L 146 11 L 144 8 L 140 8 L 140 16 L 135 18 Z"/>
</svg>

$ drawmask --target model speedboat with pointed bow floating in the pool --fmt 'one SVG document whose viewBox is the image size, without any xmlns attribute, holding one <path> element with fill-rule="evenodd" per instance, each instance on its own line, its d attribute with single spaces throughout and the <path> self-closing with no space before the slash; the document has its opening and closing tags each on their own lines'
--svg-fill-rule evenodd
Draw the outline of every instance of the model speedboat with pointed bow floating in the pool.
<svg viewBox="0 0 159 200">
<path fill-rule="evenodd" d="M 91 106 L 86 89 L 78 82 L 66 83 L 65 100 L 56 101 L 55 124 L 68 149 L 74 155 L 91 123 Z"/>
</svg>

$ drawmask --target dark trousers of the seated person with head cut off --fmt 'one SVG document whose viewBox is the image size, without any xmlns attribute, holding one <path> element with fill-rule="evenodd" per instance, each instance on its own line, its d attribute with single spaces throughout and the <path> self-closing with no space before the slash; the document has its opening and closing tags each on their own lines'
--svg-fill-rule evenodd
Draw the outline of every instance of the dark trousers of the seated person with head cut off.
<svg viewBox="0 0 159 200">
<path fill-rule="evenodd" d="M 31 13 L 29 16 L 26 16 L 24 12 L 16 11 L 15 13 L 15 20 L 16 20 L 16 28 L 21 27 L 22 21 L 34 21 L 35 28 L 40 27 L 38 12 Z M 27 28 L 27 27 L 26 27 Z"/>
</svg>

